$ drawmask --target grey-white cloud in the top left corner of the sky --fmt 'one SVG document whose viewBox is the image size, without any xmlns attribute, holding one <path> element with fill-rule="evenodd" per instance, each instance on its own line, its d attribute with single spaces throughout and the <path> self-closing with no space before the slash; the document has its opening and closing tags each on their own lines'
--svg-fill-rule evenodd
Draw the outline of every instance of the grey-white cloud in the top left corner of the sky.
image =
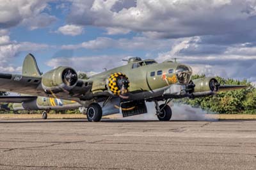
<svg viewBox="0 0 256 170">
<path fill-rule="evenodd" d="M 29 29 L 49 26 L 56 17 L 45 13 L 51 0 L 0 0 L 0 28 L 22 24 Z"/>
</svg>

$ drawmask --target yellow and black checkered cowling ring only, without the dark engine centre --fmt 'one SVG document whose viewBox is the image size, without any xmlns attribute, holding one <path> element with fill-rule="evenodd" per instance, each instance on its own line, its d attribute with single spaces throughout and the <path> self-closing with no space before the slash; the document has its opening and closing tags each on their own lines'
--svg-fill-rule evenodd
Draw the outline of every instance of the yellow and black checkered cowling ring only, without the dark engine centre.
<svg viewBox="0 0 256 170">
<path fill-rule="evenodd" d="M 118 81 L 121 79 L 128 80 L 128 77 L 124 73 L 113 73 L 108 79 L 109 90 L 113 93 L 113 95 L 120 95 L 122 86 L 118 86 Z M 129 88 L 129 84 L 127 86 L 127 90 Z"/>
</svg>

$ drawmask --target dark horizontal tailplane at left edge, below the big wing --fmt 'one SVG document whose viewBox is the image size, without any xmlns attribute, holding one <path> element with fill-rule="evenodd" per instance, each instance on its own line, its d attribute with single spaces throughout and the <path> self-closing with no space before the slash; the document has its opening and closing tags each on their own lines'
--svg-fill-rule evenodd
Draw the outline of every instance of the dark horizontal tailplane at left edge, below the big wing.
<svg viewBox="0 0 256 170">
<path fill-rule="evenodd" d="M 33 96 L 1 96 L 0 103 L 22 103 L 31 100 L 36 100 Z"/>
</svg>

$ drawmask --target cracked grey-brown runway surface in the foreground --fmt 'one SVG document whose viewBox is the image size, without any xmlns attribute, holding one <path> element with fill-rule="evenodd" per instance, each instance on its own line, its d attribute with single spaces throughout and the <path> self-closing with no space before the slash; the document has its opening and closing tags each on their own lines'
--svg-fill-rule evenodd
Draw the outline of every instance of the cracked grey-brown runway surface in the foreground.
<svg viewBox="0 0 256 170">
<path fill-rule="evenodd" d="M 256 169 L 256 121 L 0 120 L 0 169 Z"/>
</svg>

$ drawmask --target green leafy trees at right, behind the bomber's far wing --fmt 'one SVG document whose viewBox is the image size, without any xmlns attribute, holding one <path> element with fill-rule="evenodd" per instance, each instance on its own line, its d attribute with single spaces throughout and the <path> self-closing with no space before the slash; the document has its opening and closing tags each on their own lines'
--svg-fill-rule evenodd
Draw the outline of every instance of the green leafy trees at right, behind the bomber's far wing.
<svg viewBox="0 0 256 170">
<path fill-rule="evenodd" d="M 205 77 L 205 75 L 193 75 L 192 79 Z M 193 100 L 184 98 L 182 102 L 201 107 L 208 112 L 220 114 L 256 114 L 256 89 L 251 82 L 237 81 L 234 79 L 224 79 L 216 77 L 220 84 L 246 85 L 246 89 L 218 92 L 214 96 L 195 98 Z"/>
</svg>

